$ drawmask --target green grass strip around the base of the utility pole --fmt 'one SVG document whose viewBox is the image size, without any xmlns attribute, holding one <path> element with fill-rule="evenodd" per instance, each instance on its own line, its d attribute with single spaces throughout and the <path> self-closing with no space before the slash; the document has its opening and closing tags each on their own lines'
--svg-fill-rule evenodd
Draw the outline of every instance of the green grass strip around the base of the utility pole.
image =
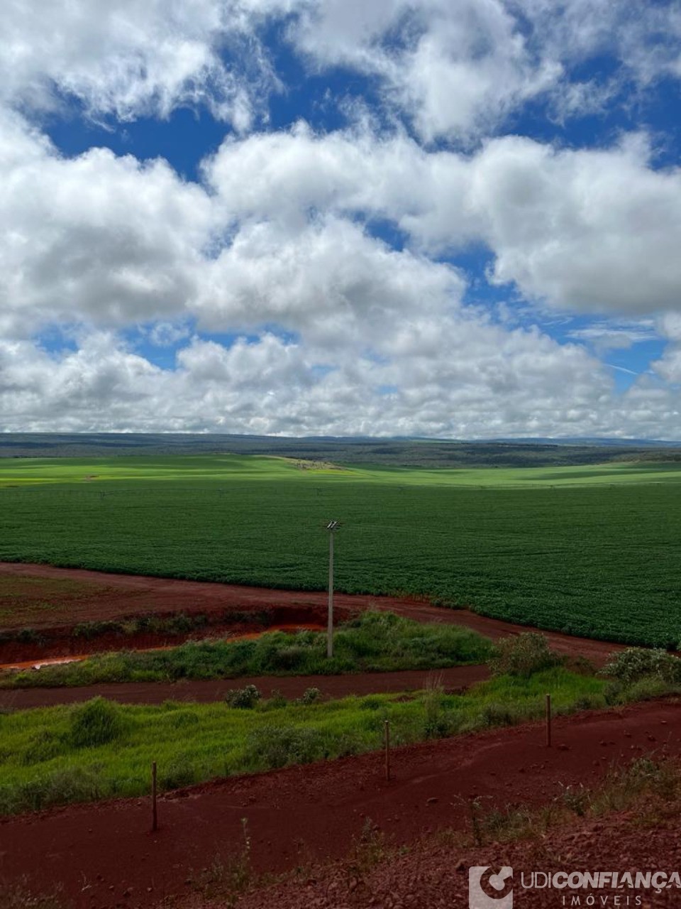
<svg viewBox="0 0 681 909">
<path fill-rule="evenodd" d="M 484 663 L 490 653 L 490 642 L 466 628 L 370 612 L 336 631 L 331 660 L 326 634 L 277 631 L 256 640 L 190 642 L 172 650 L 123 651 L 38 671 L 7 672 L 0 676 L 0 687 L 442 669 Z"/>
</svg>

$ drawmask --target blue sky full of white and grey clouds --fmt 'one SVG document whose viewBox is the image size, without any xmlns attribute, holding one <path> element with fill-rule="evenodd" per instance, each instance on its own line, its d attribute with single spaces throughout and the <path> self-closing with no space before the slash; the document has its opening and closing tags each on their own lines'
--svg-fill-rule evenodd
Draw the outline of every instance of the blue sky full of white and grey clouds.
<svg viewBox="0 0 681 909">
<path fill-rule="evenodd" d="M 5 0 L 0 431 L 681 439 L 681 0 Z"/>
</svg>

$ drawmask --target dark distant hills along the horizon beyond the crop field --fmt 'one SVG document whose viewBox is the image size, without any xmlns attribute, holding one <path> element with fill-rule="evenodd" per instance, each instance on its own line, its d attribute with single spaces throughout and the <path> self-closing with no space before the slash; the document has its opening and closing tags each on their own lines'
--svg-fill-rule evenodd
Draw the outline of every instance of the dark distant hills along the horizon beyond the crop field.
<svg viewBox="0 0 681 909">
<path fill-rule="evenodd" d="M 646 439 L 360 438 L 185 433 L 5 433 L 0 457 L 111 457 L 154 454 L 274 454 L 339 464 L 393 467 L 538 467 L 613 461 L 681 461 L 681 443 Z"/>
</svg>

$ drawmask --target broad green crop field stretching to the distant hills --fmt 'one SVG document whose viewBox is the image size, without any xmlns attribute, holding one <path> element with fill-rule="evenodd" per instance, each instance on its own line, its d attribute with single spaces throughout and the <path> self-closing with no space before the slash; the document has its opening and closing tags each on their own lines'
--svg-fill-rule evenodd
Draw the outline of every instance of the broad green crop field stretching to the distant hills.
<svg viewBox="0 0 681 909">
<path fill-rule="evenodd" d="M 418 594 L 573 634 L 681 639 L 681 465 L 358 467 L 228 454 L 0 460 L 0 559 Z"/>
</svg>

